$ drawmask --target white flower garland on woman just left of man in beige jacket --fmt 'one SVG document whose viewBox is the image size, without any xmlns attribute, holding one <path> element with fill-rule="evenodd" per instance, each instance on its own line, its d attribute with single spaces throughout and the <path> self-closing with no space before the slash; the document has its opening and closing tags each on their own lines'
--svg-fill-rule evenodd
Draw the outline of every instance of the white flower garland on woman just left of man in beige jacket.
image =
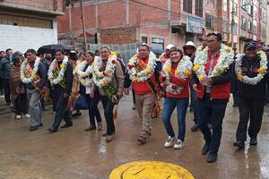
<svg viewBox="0 0 269 179">
<path fill-rule="evenodd" d="M 83 72 L 83 70 L 87 64 L 88 63 L 86 61 L 78 64 L 76 67 L 77 68 L 76 74 L 78 75 L 78 79 L 82 83 L 83 86 L 90 87 L 92 79 L 90 79 L 89 76 L 93 72 L 93 66 L 89 64 L 86 71 Z"/>
</svg>

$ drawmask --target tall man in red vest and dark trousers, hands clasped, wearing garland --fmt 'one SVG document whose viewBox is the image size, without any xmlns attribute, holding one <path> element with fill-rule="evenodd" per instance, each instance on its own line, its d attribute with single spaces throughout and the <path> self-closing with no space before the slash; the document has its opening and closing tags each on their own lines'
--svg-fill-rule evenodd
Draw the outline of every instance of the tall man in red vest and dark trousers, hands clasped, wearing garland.
<svg viewBox="0 0 269 179">
<path fill-rule="evenodd" d="M 198 125 L 204 135 L 202 155 L 209 152 L 207 162 L 217 160 L 221 145 L 222 121 L 230 98 L 230 66 L 233 53 L 221 44 L 221 34 L 208 34 L 208 47 L 195 56 L 193 88 L 197 92 Z M 213 132 L 207 123 L 211 121 Z"/>
</svg>

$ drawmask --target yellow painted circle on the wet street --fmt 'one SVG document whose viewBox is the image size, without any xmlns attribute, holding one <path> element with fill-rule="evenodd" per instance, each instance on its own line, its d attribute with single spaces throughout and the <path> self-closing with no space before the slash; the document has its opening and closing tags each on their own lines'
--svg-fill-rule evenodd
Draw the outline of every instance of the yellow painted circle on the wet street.
<svg viewBox="0 0 269 179">
<path fill-rule="evenodd" d="M 109 179 L 194 179 L 184 167 L 158 161 L 137 161 L 115 168 Z"/>
</svg>

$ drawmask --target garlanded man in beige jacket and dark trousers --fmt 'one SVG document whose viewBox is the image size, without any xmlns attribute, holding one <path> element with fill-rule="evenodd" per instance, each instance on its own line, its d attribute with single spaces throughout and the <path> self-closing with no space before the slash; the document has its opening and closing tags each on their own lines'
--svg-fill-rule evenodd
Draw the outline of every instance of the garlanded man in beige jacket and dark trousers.
<svg viewBox="0 0 269 179">
<path fill-rule="evenodd" d="M 94 85 L 91 87 L 90 95 L 94 98 L 94 91 L 99 91 L 107 123 L 107 132 L 103 136 L 106 137 L 106 142 L 110 142 L 115 134 L 113 109 L 123 96 L 125 75 L 117 61 L 117 55 L 111 53 L 108 46 L 100 48 L 100 57 L 94 60 L 92 66 Z"/>
</svg>

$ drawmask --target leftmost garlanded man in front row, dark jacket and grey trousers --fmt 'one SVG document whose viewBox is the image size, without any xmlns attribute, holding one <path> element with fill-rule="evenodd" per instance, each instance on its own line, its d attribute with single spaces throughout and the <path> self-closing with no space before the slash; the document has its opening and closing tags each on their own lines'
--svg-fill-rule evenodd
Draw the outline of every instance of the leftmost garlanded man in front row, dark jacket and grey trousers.
<svg viewBox="0 0 269 179">
<path fill-rule="evenodd" d="M 41 90 L 47 83 L 47 72 L 45 64 L 40 62 L 34 49 L 26 51 L 27 60 L 21 66 L 21 79 L 26 83 L 29 96 L 30 128 L 36 131 L 43 125 L 43 110 L 40 102 Z"/>
</svg>

